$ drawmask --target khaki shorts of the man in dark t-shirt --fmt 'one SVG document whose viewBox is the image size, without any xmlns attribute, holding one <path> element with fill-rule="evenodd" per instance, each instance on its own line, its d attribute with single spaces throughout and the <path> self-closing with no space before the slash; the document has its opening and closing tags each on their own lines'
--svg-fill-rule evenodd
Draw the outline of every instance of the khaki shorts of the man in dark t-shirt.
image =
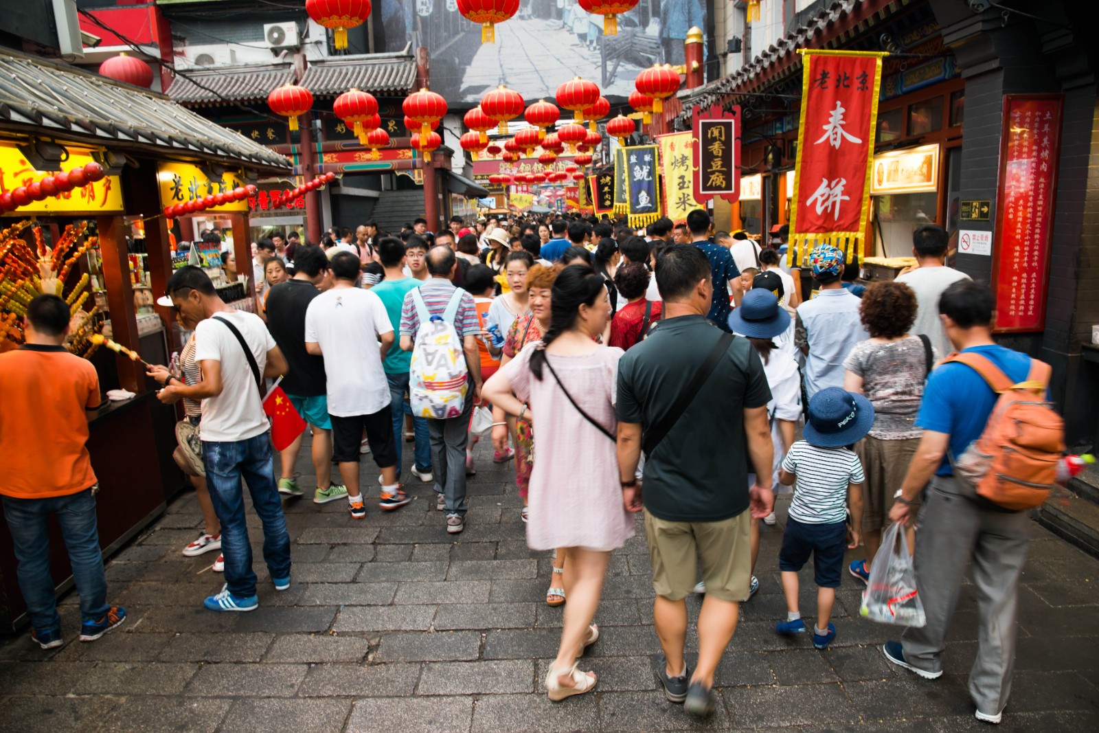
<svg viewBox="0 0 1099 733">
<path fill-rule="evenodd" d="M 746 600 L 752 579 L 751 529 L 748 510 L 720 522 L 667 522 L 645 510 L 656 595 L 673 601 L 687 598 L 695 588 L 698 557 L 707 596 Z"/>
</svg>

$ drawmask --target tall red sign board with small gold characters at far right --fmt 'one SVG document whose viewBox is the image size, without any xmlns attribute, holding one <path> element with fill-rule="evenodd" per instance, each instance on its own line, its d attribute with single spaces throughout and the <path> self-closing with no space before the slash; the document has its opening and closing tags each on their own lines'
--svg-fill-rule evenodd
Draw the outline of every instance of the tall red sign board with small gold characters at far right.
<svg viewBox="0 0 1099 733">
<path fill-rule="evenodd" d="M 1061 95 L 1003 98 L 992 259 L 997 332 L 1045 327 L 1063 104 Z"/>
</svg>

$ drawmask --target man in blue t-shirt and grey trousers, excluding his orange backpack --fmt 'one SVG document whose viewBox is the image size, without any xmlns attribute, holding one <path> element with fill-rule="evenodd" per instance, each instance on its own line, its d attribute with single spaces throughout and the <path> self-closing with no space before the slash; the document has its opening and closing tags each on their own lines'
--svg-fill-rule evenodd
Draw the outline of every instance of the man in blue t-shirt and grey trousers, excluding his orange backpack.
<svg viewBox="0 0 1099 733">
<path fill-rule="evenodd" d="M 1025 381 L 1031 359 L 992 341 L 992 292 L 988 286 L 959 280 L 943 291 L 939 313 L 946 337 L 959 352 L 979 354 L 1012 382 Z M 942 676 L 942 652 L 957 604 L 966 560 L 973 559 L 977 590 L 977 660 L 969 693 L 977 720 L 999 723 L 1008 702 L 1015 657 L 1015 610 L 1019 575 L 1026 558 L 1030 518 L 977 497 L 973 486 L 955 477 L 951 460 L 985 430 L 998 396 L 973 368 L 943 364 L 928 378 L 915 424 L 920 446 L 889 512 L 893 522 L 910 522 L 910 504 L 930 481 L 915 542 L 915 575 L 926 614 L 922 629 L 907 629 L 900 642 L 886 642 L 890 662 L 920 677 Z"/>
</svg>

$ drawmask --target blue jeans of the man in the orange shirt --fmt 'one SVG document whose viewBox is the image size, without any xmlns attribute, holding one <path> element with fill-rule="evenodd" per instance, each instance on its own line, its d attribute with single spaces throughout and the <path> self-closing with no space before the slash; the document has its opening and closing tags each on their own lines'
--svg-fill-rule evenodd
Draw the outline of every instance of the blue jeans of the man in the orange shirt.
<svg viewBox="0 0 1099 733">
<path fill-rule="evenodd" d="M 96 522 L 96 497 L 90 488 L 48 499 L 3 497 L 3 513 L 19 560 L 19 589 L 23 591 L 26 613 L 35 631 L 53 631 L 62 625 L 54 579 L 49 575 L 49 535 L 46 533 L 49 514 L 54 514 L 62 526 L 76 591 L 80 595 L 81 620 L 101 619 L 110 610 Z"/>
</svg>

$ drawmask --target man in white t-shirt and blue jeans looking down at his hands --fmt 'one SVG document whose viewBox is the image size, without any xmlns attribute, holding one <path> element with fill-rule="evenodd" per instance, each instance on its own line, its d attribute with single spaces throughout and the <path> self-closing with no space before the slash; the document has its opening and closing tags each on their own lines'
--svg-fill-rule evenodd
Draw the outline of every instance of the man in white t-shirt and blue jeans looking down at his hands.
<svg viewBox="0 0 1099 733">
<path fill-rule="evenodd" d="M 263 378 L 286 374 L 286 357 L 259 316 L 226 306 L 200 268 L 176 270 L 167 291 L 173 306 L 198 322 L 195 360 L 202 370 L 202 381 L 165 387 L 159 398 L 169 404 L 184 397 L 201 400 L 202 462 L 210 500 L 221 521 L 221 552 L 225 558 L 225 587 L 207 598 L 203 606 L 211 611 L 252 611 L 259 602 L 242 476 L 263 522 L 264 560 L 275 589 L 290 587 L 290 535 L 275 482 L 263 407 Z"/>
</svg>

